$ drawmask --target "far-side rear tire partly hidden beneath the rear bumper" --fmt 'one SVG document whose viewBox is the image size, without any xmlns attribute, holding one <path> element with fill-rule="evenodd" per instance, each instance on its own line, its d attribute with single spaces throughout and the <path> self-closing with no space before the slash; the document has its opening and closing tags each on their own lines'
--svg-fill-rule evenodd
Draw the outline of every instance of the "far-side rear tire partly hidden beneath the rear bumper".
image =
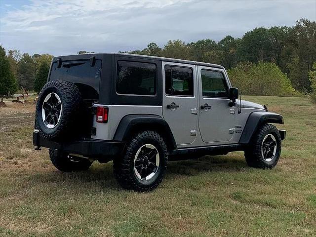
<svg viewBox="0 0 316 237">
<path fill-rule="evenodd" d="M 49 157 L 53 165 L 60 171 L 73 172 L 87 170 L 91 166 L 92 162 L 86 158 L 78 158 L 78 161 L 72 161 L 66 153 L 58 154 L 54 156 L 54 150 L 49 149 Z"/>
</svg>

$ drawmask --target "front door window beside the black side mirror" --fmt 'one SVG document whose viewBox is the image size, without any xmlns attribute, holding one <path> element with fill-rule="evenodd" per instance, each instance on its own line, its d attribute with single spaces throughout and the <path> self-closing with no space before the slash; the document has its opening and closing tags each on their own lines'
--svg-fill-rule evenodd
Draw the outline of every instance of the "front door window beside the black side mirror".
<svg viewBox="0 0 316 237">
<path fill-rule="evenodd" d="M 228 86 L 221 72 L 202 69 L 201 78 L 204 97 L 228 97 Z"/>
</svg>

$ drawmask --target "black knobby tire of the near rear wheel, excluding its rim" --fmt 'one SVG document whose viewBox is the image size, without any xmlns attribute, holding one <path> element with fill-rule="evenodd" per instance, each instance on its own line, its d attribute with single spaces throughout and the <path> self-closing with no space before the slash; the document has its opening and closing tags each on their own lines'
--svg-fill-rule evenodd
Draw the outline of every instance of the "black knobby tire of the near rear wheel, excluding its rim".
<svg viewBox="0 0 316 237">
<path fill-rule="evenodd" d="M 134 171 L 134 158 L 139 148 L 145 144 L 154 145 L 159 154 L 157 173 L 149 180 L 139 179 Z M 131 139 L 127 144 L 125 155 L 113 160 L 114 175 L 124 189 L 137 192 L 149 192 L 158 187 L 165 174 L 168 163 L 167 146 L 163 138 L 156 131 L 143 131 Z"/>
</svg>

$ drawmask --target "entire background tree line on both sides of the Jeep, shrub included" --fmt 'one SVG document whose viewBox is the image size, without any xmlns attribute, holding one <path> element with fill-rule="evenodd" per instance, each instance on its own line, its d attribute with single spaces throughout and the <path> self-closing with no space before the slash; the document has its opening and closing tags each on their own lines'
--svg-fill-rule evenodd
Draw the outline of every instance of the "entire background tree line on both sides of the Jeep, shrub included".
<svg viewBox="0 0 316 237">
<path fill-rule="evenodd" d="M 316 22 L 300 19 L 293 27 L 259 27 L 242 38 L 226 36 L 218 42 L 211 39 L 190 43 L 169 40 L 163 47 L 151 42 L 142 50 L 126 53 L 223 65 L 244 94 L 313 93 L 315 85 L 310 78 L 316 61 Z M 31 56 L 19 50 L 5 52 L 0 46 L 0 94 L 21 88 L 40 91 L 52 58 L 50 54 Z M 276 89 L 279 84 L 284 88 Z"/>
</svg>

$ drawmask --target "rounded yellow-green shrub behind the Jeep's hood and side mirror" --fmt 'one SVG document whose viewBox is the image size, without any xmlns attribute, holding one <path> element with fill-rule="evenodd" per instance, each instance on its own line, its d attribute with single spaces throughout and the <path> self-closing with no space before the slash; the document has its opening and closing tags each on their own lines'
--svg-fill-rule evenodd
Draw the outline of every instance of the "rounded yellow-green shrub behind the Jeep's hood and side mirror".
<svg viewBox="0 0 316 237">
<path fill-rule="evenodd" d="M 232 84 L 245 95 L 300 96 L 274 63 L 240 63 L 228 70 Z"/>
</svg>

